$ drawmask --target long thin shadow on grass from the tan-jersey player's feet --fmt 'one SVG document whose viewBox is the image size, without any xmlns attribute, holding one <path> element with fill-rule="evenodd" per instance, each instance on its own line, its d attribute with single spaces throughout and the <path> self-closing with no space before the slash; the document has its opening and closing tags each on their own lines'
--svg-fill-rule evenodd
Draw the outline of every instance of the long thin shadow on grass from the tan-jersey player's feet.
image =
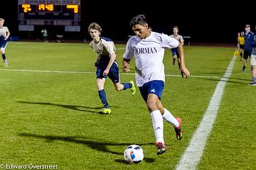
<svg viewBox="0 0 256 170">
<path fill-rule="evenodd" d="M 29 102 L 29 101 L 17 101 L 18 103 L 26 103 L 26 104 L 38 104 L 38 105 L 46 105 L 46 106 L 59 106 L 62 108 L 68 108 L 74 111 L 85 111 L 90 113 L 99 113 L 99 111 L 90 111 L 90 110 L 99 110 L 102 107 L 88 107 L 88 106 L 75 106 L 75 105 L 64 105 L 64 104 L 56 104 L 49 102 Z M 117 106 L 111 106 L 112 108 L 117 108 Z M 83 109 L 80 109 L 83 108 Z"/>
</svg>

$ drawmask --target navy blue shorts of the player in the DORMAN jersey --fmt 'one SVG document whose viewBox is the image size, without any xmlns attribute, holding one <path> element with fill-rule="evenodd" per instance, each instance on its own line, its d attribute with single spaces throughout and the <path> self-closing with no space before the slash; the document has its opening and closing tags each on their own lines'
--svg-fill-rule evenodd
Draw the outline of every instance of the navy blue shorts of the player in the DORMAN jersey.
<svg viewBox="0 0 256 170">
<path fill-rule="evenodd" d="M 164 81 L 161 80 L 153 80 L 149 81 L 143 86 L 139 87 L 139 91 L 142 94 L 142 98 L 144 101 L 147 101 L 147 97 L 149 94 L 155 94 L 158 96 L 159 100 L 161 100 L 161 95 L 164 90 Z"/>
</svg>

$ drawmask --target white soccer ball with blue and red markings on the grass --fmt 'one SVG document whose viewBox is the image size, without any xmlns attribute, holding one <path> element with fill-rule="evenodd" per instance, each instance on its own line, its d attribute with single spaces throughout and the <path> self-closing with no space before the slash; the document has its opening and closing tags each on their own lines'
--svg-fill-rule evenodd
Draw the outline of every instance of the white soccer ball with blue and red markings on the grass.
<svg viewBox="0 0 256 170">
<path fill-rule="evenodd" d="M 129 164 L 142 162 L 144 159 L 142 147 L 139 147 L 139 145 L 129 145 L 129 147 L 124 150 L 124 159 Z"/>
</svg>

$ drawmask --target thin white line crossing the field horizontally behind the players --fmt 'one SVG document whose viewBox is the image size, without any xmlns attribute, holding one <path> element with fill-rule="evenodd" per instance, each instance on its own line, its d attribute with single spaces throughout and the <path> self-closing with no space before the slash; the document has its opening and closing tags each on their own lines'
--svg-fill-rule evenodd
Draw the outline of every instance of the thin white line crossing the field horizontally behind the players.
<svg viewBox="0 0 256 170">
<path fill-rule="evenodd" d="M 0 71 L 10 71 L 10 72 L 50 72 L 50 73 L 68 73 L 68 74 L 95 74 L 95 72 L 75 72 L 75 71 L 57 71 L 57 70 L 36 70 L 36 69 L 0 69 Z M 134 75 L 134 73 L 120 73 Z M 166 74 L 166 77 L 181 77 L 181 75 Z M 191 76 L 191 77 L 201 77 L 201 78 L 215 78 L 220 79 L 220 77 L 214 76 Z"/>
</svg>

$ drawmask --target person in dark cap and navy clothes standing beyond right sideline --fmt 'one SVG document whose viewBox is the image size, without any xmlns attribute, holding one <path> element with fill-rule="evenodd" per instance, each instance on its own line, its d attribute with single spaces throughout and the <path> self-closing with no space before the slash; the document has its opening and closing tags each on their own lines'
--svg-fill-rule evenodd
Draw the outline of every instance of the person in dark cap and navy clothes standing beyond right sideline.
<svg viewBox="0 0 256 170">
<path fill-rule="evenodd" d="M 250 25 L 245 25 L 245 49 L 244 49 L 244 55 L 243 55 L 243 59 L 242 59 L 242 72 L 245 72 L 245 68 L 247 65 L 247 59 L 248 57 L 250 57 L 251 52 L 252 52 L 252 47 L 251 47 L 251 43 L 253 40 L 253 36 L 254 33 L 252 33 L 250 31 Z M 251 67 L 252 68 L 252 67 Z M 251 69 L 252 71 L 252 69 Z"/>
</svg>

